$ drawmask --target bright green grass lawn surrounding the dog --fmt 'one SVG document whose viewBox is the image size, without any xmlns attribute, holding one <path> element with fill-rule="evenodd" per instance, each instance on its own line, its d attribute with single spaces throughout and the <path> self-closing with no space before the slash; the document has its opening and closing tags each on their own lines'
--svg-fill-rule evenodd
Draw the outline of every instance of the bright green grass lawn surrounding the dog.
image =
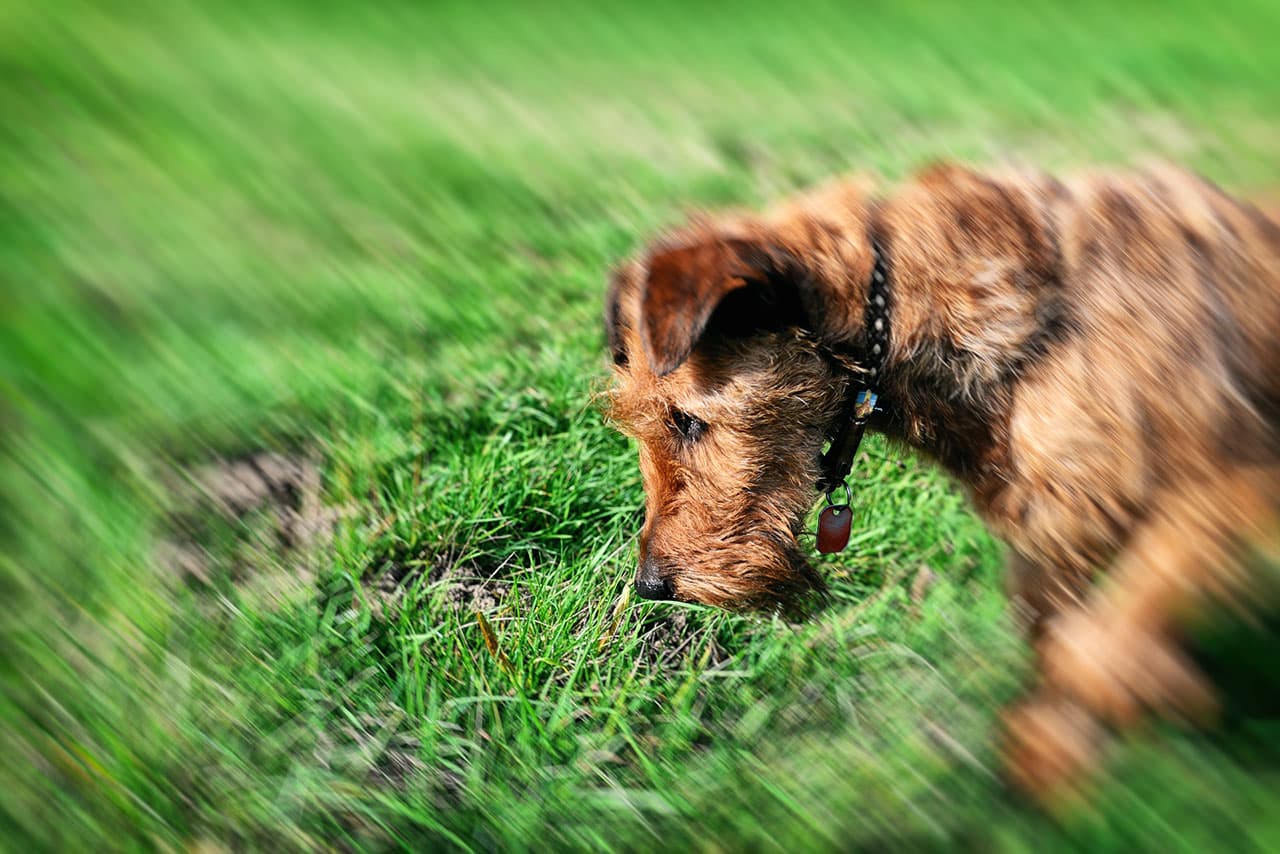
<svg viewBox="0 0 1280 854">
<path fill-rule="evenodd" d="M 604 273 L 689 207 L 936 157 L 1274 196 L 1280 6 L 539 5 L 0 5 L 8 846 L 1280 844 L 1265 718 L 1007 795 L 1000 549 L 878 442 L 815 620 L 626 600 L 594 402 Z M 177 577 L 175 472 L 262 448 L 333 542 L 200 519 Z"/>
</svg>

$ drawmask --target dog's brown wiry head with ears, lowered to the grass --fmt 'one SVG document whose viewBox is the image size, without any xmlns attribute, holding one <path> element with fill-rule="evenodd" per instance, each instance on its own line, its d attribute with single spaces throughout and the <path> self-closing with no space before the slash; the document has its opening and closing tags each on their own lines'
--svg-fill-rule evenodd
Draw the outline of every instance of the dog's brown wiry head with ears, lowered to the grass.
<svg viewBox="0 0 1280 854">
<path fill-rule="evenodd" d="M 832 344 L 859 334 L 872 264 L 861 218 L 840 213 L 838 230 L 804 211 L 698 224 L 614 274 L 611 415 L 640 447 L 640 595 L 753 607 L 822 588 L 796 538 L 847 383 Z"/>
</svg>

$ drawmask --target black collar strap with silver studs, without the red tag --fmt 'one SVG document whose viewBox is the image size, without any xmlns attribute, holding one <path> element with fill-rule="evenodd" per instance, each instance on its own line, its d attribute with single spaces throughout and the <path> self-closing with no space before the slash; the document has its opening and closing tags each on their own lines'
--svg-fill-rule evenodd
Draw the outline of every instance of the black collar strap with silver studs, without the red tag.
<svg viewBox="0 0 1280 854">
<path fill-rule="evenodd" d="M 872 254 L 876 264 L 872 268 L 872 280 L 867 287 L 867 306 L 863 324 L 865 350 L 859 360 L 864 369 L 850 376 L 845 391 L 845 401 L 840 407 L 840 429 L 831 439 L 831 447 L 822 456 L 822 479 L 818 488 L 828 495 L 845 484 L 849 470 L 854 466 L 854 456 L 861 444 L 867 421 L 876 411 L 881 371 L 888 356 L 888 264 L 879 243 L 872 239 Z"/>
</svg>

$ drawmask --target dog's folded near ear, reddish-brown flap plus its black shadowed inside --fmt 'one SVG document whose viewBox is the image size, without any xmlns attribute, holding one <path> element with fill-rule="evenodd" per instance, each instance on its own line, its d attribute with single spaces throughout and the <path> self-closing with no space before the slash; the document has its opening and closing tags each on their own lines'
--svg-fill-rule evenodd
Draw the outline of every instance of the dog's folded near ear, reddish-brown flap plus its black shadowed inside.
<svg viewBox="0 0 1280 854">
<path fill-rule="evenodd" d="M 680 367 L 713 316 L 742 334 L 797 321 L 791 266 L 776 247 L 709 238 L 660 248 L 648 260 L 640 298 L 640 334 L 659 376 Z"/>
</svg>

